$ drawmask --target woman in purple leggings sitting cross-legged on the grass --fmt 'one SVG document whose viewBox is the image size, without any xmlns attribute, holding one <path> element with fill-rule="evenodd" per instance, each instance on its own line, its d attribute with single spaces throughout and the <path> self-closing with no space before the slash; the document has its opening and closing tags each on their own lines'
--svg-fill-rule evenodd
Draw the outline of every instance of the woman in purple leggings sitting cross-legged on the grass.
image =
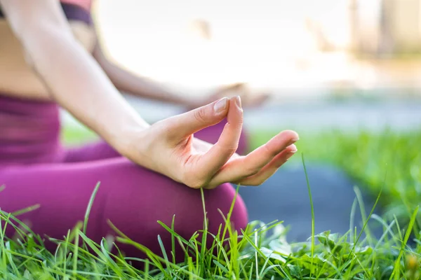
<svg viewBox="0 0 421 280">
<path fill-rule="evenodd" d="M 40 235 L 62 238 L 83 220 L 100 181 L 88 237 L 100 241 L 114 234 L 110 220 L 159 253 L 156 236 L 166 248 L 171 236 L 156 221 L 168 225 L 175 215 L 175 230 L 186 238 L 203 228 L 198 188 L 205 189 L 208 228 L 216 233 L 223 223 L 218 209 L 226 215 L 234 199 L 229 183 L 259 185 L 296 151 L 298 134 L 286 131 L 246 156 L 236 154 L 243 121 L 239 97 L 147 124 L 108 78 L 111 71 L 101 67 L 88 1 L 60 6 L 57 0 L 0 0 L 0 5 L 0 183 L 5 186 L 0 207 L 13 212 L 38 205 L 19 218 Z M 137 84 L 117 86 L 158 91 L 133 81 Z M 79 151 L 62 148 L 58 106 L 105 142 Z M 192 136 L 225 118 L 215 145 Z M 240 197 L 231 221 L 236 230 L 246 226 Z M 6 234 L 13 234 L 10 226 Z M 118 245 L 126 255 L 143 256 Z M 175 255 L 182 260 L 181 250 Z"/>
</svg>

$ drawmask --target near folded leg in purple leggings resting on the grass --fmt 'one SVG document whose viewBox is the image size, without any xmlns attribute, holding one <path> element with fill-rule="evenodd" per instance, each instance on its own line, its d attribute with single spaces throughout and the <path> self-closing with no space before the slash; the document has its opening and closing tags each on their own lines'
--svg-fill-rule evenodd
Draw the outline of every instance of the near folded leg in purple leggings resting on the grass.
<svg viewBox="0 0 421 280">
<path fill-rule="evenodd" d="M 200 190 L 187 188 L 125 158 L 4 169 L 0 171 L 0 185 L 6 188 L 0 193 L 0 206 L 3 211 L 13 212 L 39 204 L 39 208 L 18 218 L 29 223 L 37 234 L 61 239 L 78 221 L 83 221 L 98 182 L 100 188 L 87 230 L 94 241 L 114 235 L 108 220 L 156 253 L 161 252 L 157 235 L 166 248 L 171 248 L 171 235 L 157 221 L 171 225 L 175 215 L 175 230 L 185 238 L 203 229 Z M 229 184 L 204 191 L 210 232 L 218 232 L 223 223 L 218 209 L 227 215 L 234 195 Z M 237 230 L 246 226 L 241 197 L 234 204 L 232 221 Z M 128 255 L 143 256 L 134 248 L 119 246 Z M 182 260 L 182 251 L 176 255 Z"/>
</svg>

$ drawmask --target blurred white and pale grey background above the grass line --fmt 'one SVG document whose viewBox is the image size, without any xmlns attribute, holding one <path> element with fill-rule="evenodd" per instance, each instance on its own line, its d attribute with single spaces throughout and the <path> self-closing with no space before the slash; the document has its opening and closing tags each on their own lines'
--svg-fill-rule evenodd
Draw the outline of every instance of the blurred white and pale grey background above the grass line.
<svg viewBox="0 0 421 280">
<path fill-rule="evenodd" d="M 418 0 L 95 3 L 107 53 L 127 69 L 192 99 L 237 82 L 269 92 L 270 109 L 246 111 L 250 128 L 419 125 L 420 14 Z M 373 108 L 356 97 L 393 104 Z M 357 104 L 326 110 L 326 99 L 344 98 Z M 180 113 L 130 100 L 149 121 Z"/>
</svg>

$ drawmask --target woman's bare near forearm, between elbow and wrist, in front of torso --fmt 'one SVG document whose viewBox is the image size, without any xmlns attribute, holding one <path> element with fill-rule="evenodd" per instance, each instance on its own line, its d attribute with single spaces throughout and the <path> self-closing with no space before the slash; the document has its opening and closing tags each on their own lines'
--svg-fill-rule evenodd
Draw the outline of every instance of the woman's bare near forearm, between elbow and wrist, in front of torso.
<svg viewBox="0 0 421 280">
<path fill-rule="evenodd" d="M 54 27 L 32 27 L 21 41 L 52 98 L 121 152 L 128 135 L 147 127 L 93 57 Z M 32 35 L 33 34 L 33 35 Z"/>
</svg>

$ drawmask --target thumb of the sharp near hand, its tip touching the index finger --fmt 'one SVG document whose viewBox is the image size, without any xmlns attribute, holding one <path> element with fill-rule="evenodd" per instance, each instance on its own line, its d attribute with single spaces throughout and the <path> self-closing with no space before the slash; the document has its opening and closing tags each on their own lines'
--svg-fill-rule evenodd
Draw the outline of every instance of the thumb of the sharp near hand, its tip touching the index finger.
<svg viewBox="0 0 421 280">
<path fill-rule="evenodd" d="M 200 108 L 182 113 L 170 118 L 171 130 L 168 137 L 180 141 L 180 137 L 189 137 L 189 135 L 220 123 L 227 117 L 229 109 L 229 99 L 224 97 L 218 101 L 212 102 Z"/>
</svg>

